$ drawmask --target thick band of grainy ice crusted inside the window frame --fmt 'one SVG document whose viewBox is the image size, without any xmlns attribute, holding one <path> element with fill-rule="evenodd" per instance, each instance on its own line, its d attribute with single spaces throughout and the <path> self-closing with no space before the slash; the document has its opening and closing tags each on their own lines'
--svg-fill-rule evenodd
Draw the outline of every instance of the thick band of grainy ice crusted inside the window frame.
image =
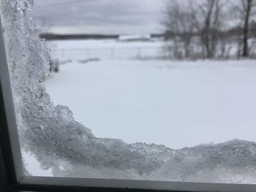
<svg viewBox="0 0 256 192">
<path fill-rule="evenodd" d="M 233 140 L 181 150 L 128 145 L 94 137 L 68 107 L 54 106 L 39 83 L 48 74 L 50 56 L 26 16 L 32 5 L 32 0 L 2 0 L 0 8 L 20 144 L 42 169 L 51 168 L 60 177 L 256 183 L 255 142 Z"/>
</svg>

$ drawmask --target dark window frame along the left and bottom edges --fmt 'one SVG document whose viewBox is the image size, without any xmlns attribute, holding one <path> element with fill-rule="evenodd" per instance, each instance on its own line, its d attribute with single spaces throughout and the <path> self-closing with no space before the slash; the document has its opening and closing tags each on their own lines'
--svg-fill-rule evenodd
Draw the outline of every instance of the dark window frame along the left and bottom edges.
<svg viewBox="0 0 256 192">
<path fill-rule="evenodd" d="M 0 18 L 0 191 L 256 191 L 256 185 L 26 176 Z"/>
</svg>

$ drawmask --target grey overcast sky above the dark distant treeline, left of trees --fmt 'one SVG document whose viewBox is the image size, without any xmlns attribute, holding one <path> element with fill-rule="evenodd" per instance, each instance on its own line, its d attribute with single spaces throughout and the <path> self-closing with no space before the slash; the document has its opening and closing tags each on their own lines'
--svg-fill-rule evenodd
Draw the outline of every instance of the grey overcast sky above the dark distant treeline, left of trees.
<svg viewBox="0 0 256 192">
<path fill-rule="evenodd" d="M 30 16 L 56 33 L 151 34 L 162 31 L 168 0 L 34 0 Z"/>
</svg>

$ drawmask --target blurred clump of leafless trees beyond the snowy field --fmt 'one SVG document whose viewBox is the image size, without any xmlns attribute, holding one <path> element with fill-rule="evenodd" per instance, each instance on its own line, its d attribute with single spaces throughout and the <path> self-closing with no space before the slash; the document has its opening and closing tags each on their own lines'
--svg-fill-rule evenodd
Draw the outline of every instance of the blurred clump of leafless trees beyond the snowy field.
<svg viewBox="0 0 256 192">
<path fill-rule="evenodd" d="M 170 0 L 164 13 L 167 49 L 176 58 L 229 58 L 237 38 L 238 58 L 255 52 L 256 0 Z"/>
</svg>

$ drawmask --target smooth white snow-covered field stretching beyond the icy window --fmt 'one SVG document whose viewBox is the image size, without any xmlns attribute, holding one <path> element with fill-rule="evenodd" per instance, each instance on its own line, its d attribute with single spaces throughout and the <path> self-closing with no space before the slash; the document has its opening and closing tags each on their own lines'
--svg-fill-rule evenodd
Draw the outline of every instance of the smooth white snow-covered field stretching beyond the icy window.
<svg viewBox="0 0 256 192">
<path fill-rule="evenodd" d="M 110 40 L 50 45 L 161 47 L 160 42 Z M 54 104 L 67 105 L 97 137 L 172 148 L 235 138 L 256 141 L 255 61 L 113 60 L 99 55 L 99 61 L 85 64 L 77 54 L 66 55 L 72 61 L 44 85 Z"/>
</svg>

